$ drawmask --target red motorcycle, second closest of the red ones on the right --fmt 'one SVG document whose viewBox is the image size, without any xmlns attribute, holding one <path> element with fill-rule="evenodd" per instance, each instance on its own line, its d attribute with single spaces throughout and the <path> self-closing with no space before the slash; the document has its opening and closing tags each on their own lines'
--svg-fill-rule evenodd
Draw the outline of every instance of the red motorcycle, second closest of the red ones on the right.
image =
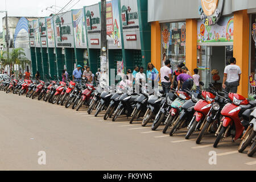
<svg viewBox="0 0 256 182">
<path fill-rule="evenodd" d="M 203 91 L 201 95 L 204 100 L 199 100 L 194 107 L 195 114 L 188 125 L 188 132 L 185 135 L 185 139 L 189 139 L 195 130 L 201 130 L 201 127 L 204 126 L 207 115 L 209 114 L 210 109 L 212 109 L 214 98 L 216 97 L 216 93 L 211 91 Z"/>
</svg>

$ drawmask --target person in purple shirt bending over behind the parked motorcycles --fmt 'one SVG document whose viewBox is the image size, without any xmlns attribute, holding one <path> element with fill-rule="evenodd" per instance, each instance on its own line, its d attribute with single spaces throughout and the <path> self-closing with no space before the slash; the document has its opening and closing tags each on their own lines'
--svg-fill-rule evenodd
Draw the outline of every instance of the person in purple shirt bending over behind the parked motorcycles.
<svg viewBox="0 0 256 182">
<path fill-rule="evenodd" d="M 187 73 L 188 68 L 187 67 L 182 67 L 181 71 L 183 73 L 181 73 L 179 76 L 177 76 L 177 90 L 180 90 L 181 84 L 182 84 L 182 88 L 181 90 L 183 92 L 185 92 L 187 89 L 191 90 L 192 86 L 193 86 L 193 77 L 188 75 Z"/>
</svg>

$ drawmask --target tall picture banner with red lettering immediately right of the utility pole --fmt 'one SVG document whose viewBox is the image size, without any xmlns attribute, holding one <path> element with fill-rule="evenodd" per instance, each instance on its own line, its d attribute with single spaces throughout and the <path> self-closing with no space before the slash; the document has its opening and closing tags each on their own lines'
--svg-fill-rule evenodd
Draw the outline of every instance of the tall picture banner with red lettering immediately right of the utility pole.
<svg viewBox="0 0 256 182">
<path fill-rule="evenodd" d="M 121 31 L 119 21 L 118 0 L 112 0 L 106 4 L 106 31 L 109 49 L 121 49 Z"/>
</svg>

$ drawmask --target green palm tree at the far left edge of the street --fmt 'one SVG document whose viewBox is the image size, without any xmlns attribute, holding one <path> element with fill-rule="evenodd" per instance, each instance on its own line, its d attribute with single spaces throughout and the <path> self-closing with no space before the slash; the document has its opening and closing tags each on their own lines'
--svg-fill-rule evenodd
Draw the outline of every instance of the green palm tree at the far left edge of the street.
<svg viewBox="0 0 256 182">
<path fill-rule="evenodd" d="M 3 56 L 0 57 L 0 63 L 2 67 L 10 65 L 11 72 L 13 70 L 14 64 L 21 65 L 22 69 L 24 69 L 26 64 L 30 64 L 30 60 L 27 59 L 23 48 L 14 48 L 9 53 L 9 60 L 7 60 L 7 52 L 3 51 Z"/>
</svg>

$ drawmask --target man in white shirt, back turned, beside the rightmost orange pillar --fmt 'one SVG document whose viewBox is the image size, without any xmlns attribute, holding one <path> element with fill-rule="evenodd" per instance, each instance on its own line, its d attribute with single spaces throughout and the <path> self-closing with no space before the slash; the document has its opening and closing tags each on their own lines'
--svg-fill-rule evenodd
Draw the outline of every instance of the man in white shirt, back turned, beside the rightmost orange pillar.
<svg viewBox="0 0 256 182">
<path fill-rule="evenodd" d="M 230 65 L 224 70 L 222 87 L 226 92 L 237 93 L 237 87 L 240 85 L 241 69 L 236 65 L 236 58 L 230 59 Z"/>
</svg>

